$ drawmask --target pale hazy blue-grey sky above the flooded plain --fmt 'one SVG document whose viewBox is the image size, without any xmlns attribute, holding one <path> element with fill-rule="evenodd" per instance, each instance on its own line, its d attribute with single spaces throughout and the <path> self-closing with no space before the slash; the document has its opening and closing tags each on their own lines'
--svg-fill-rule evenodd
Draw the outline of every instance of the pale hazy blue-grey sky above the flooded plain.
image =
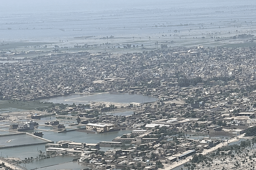
<svg viewBox="0 0 256 170">
<path fill-rule="evenodd" d="M 255 0 L 2 0 L 0 14 L 256 5 Z"/>
</svg>

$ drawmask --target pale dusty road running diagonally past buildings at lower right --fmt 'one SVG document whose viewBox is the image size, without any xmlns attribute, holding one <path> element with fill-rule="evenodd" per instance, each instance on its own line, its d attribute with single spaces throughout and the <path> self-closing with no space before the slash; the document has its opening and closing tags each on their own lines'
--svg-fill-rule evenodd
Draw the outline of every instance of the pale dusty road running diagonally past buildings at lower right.
<svg viewBox="0 0 256 170">
<path fill-rule="evenodd" d="M 220 144 L 216 145 L 215 147 L 212 147 L 212 148 L 210 148 L 210 149 L 204 150 L 201 154 L 206 155 L 206 154 L 208 154 L 208 153 L 210 153 L 210 152 L 214 152 L 214 151 L 217 150 L 218 148 L 227 146 L 229 143 L 232 143 L 232 142 L 235 142 L 235 141 L 239 141 L 240 138 L 243 138 L 243 137 L 244 137 L 244 135 L 245 135 L 245 133 L 242 134 L 242 135 L 240 135 L 240 136 L 237 136 L 238 139 L 236 139 L 236 137 L 235 137 L 235 138 L 232 138 L 232 139 L 228 139 L 228 141 L 226 141 L 226 142 L 224 142 L 224 143 L 220 143 Z M 172 163 L 172 164 L 163 164 L 163 165 L 164 165 L 164 170 L 172 170 L 172 169 L 174 169 L 174 168 L 176 168 L 176 167 L 178 167 L 178 166 L 181 166 L 182 164 L 185 164 L 186 162 L 189 162 L 190 159 L 192 159 L 192 158 L 193 158 L 192 156 L 188 156 L 188 157 L 186 158 L 186 160 L 185 160 L 185 159 L 184 159 L 184 160 L 180 160 L 180 161 L 174 162 L 174 163 Z"/>
</svg>

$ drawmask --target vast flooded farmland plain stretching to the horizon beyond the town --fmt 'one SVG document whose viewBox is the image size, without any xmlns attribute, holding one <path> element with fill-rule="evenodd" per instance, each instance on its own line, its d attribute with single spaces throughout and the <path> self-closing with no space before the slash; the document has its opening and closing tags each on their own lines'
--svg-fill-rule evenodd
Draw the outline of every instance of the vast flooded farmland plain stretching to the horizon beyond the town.
<svg viewBox="0 0 256 170">
<path fill-rule="evenodd" d="M 156 6 L 155 9 L 34 13 L 33 20 L 22 11 L 12 16 L 2 14 L 0 50 L 134 53 L 198 45 L 254 46 L 247 42 L 253 41 L 252 37 L 234 39 L 234 36 L 255 33 L 255 7 L 215 4 L 174 8 L 166 4 L 162 9 Z"/>
</svg>

